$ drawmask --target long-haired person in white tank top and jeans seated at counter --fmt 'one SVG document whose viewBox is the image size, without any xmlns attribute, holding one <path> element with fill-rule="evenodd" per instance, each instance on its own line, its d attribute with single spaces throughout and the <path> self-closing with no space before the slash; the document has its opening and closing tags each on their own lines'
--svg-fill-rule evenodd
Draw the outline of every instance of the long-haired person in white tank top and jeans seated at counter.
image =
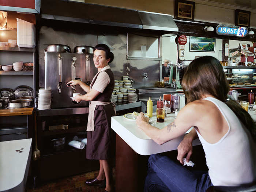
<svg viewBox="0 0 256 192">
<path fill-rule="evenodd" d="M 229 83 L 219 61 L 199 57 L 189 64 L 182 79 L 188 104 L 175 121 L 163 129 L 148 124 L 142 114 L 136 123 L 156 143 L 163 144 L 183 135 L 178 161 L 189 161 L 192 141 L 199 138 L 206 154 L 208 172 L 191 171 L 180 163 L 155 154 L 148 159 L 144 191 L 195 192 L 212 185 L 239 186 L 256 178 L 256 127 L 251 116 L 227 97 Z"/>
</svg>

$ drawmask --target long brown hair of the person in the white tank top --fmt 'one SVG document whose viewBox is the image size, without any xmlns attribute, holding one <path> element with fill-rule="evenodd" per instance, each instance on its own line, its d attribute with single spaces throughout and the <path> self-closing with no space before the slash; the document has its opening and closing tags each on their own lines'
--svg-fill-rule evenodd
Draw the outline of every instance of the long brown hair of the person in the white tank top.
<svg viewBox="0 0 256 192">
<path fill-rule="evenodd" d="M 228 99 L 229 83 L 221 63 L 215 57 L 203 56 L 193 60 L 184 74 L 182 86 L 188 102 L 201 99 L 204 94 L 225 102 L 249 129 L 253 139 L 256 138 L 256 125 L 252 117 L 236 101 Z"/>
</svg>

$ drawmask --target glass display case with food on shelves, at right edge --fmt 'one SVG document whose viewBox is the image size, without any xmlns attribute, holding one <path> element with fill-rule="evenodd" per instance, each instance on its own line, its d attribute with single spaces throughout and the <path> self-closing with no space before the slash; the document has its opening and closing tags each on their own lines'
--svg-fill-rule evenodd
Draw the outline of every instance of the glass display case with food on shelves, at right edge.
<svg viewBox="0 0 256 192">
<path fill-rule="evenodd" d="M 230 88 L 256 88 L 256 67 L 223 66 Z"/>
</svg>

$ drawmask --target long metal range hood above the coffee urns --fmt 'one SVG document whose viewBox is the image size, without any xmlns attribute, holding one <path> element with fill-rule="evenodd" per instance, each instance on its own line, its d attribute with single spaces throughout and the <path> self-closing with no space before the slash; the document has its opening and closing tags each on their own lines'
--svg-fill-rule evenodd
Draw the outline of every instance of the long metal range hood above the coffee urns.
<svg viewBox="0 0 256 192">
<path fill-rule="evenodd" d="M 172 15 L 68 0 L 41 1 L 41 18 L 134 29 L 178 31 Z"/>
</svg>

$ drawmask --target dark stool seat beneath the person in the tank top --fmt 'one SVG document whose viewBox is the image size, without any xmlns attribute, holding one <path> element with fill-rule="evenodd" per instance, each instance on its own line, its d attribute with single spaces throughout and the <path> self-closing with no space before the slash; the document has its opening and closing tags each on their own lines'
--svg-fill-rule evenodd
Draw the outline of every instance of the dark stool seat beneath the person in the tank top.
<svg viewBox="0 0 256 192">
<path fill-rule="evenodd" d="M 206 192 L 255 192 L 256 182 L 242 186 L 211 186 Z"/>
</svg>

